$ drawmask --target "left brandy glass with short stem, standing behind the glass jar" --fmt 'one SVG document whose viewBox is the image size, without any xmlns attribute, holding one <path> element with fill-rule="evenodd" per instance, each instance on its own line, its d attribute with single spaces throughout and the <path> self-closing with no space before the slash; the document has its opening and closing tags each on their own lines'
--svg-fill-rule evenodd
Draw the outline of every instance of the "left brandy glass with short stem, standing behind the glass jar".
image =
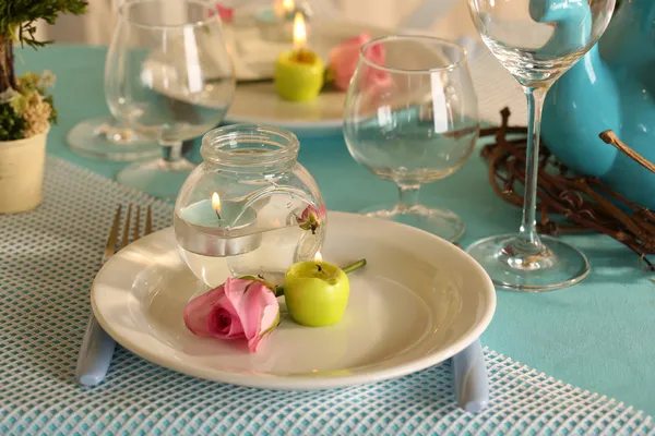
<svg viewBox="0 0 655 436">
<path fill-rule="evenodd" d="M 156 140 L 162 157 L 126 167 L 119 183 L 175 198 L 194 165 L 182 141 L 218 124 L 235 93 L 221 21 L 198 0 L 131 0 L 107 55 L 105 96 L 111 113 Z"/>
</svg>

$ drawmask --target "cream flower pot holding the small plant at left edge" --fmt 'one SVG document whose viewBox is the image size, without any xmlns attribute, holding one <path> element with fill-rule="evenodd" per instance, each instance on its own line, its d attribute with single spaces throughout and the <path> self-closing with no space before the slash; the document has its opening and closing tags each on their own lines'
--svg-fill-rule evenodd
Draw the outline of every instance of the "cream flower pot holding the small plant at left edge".
<svg viewBox="0 0 655 436">
<path fill-rule="evenodd" d="M 0 214 L 31 210 L 43 198 L 48 131 L 17 141 L 0 141 Z"/>
</svg>

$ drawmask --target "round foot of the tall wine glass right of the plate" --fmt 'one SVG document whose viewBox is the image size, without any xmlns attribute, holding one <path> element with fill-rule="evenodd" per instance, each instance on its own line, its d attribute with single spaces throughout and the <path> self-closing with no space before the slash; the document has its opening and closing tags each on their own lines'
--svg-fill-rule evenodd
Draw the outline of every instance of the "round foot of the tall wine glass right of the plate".
<svg viewBox="0 0 655 436">
<path fill-rule="evenodd" d="M 512 253 L 515 234 L 477 241 L 466 252 L 485 268 L 497 288 L 511 291 L 553 291 L 587 277 L 590 263 L 577 249 L 556 238 L 540 239 L 545 250 L 533 256 Z"/>
</svg>

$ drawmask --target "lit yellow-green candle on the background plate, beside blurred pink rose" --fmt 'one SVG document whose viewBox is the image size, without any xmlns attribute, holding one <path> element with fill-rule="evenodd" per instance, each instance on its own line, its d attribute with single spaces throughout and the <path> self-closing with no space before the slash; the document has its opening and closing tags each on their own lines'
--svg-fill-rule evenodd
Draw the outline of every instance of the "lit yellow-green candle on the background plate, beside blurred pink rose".
<svg viewBox="0 0 655 436">
<path fill-rule="evenodd" d="M 324 65 L 317 53 L 307 48 L 305 15 L 294 17 L 294 49 L 284 51 L 275 61 L 275 89 L 285 100 L 307 101 L 323 87 Z"/>
</svg>

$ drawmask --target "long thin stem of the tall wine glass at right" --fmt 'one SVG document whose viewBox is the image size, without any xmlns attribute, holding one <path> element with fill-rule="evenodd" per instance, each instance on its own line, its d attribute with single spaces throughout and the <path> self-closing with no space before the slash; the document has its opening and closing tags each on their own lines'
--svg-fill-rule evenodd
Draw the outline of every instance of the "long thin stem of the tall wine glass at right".
<svg viewBox="0 0 655 436">
<path fill-rule="evenodd" d="M 527 148 L 525 150 L 525 194 L 523 198 L 523 220 L 519 238 L 535 252 L 543 250 L 537 234 L 537 173 L 539 171 L 539 131 L 541 126 L 541 110 L 548 93 L 546 87 L 524 86 L 527 97 L 528 123 Z"/>
</svg>

